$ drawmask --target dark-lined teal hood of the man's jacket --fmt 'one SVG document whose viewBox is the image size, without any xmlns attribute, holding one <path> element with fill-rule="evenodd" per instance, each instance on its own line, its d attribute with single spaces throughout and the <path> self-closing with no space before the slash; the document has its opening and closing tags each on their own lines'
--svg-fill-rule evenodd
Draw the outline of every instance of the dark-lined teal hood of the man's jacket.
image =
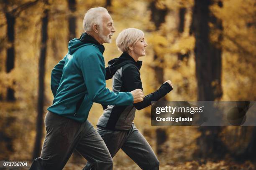
<svg viewBox="0 0 256 170">
<path fill-rule="evenodd" d="M 92 36 L 90 36 L 86 32 L 82 33 L 80 38 L 74 38 L 73 40 L 69 41 L 69 45 L 68 45 L 69 54 L 73 54 L 76 50 L 88 44 L 96 45 L 100 49 L 100 52 L 103 54 L 105 50 L 104 46 L 101 45 L 99 42 L 97 42 L 97 40 L 95 40 Z"/>
</svg>

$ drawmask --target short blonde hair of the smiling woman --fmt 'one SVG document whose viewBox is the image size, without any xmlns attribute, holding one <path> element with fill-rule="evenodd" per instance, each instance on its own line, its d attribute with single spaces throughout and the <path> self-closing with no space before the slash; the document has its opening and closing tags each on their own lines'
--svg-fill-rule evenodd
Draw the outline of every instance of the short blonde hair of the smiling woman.
<svg viewBox="0 0 256 170">
<path fill-rule="evenodd" d="M 137 28 L 127 28 L 118 34 L 115 44 L 118 50 L 128 52 L 130 45 L 135 45 L 136 42 L 144 36 L 144 32 Z"/>
</svg>

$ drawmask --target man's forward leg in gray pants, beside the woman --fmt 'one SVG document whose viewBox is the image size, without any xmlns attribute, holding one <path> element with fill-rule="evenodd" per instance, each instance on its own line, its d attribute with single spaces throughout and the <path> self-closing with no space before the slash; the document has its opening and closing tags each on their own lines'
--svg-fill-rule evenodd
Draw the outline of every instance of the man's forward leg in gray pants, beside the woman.
<svg viewBox="0 0 256 170">
<path fill-rule="evenodd" d="M 99 133 L 88 120 L 83 124 L 83 129 L 76 150 L 92 164 L 88 168 L 92 170 L 112 170 L 113 160 Z"/>
</svg>

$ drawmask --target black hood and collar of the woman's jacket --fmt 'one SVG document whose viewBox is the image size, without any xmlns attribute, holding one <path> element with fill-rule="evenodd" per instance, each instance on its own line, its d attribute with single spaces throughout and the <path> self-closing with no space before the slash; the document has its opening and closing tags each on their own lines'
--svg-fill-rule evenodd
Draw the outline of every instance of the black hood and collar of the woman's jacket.
<svg viewBox="0 0 256 170">
<path fill-rule="evenodd" d="M 113 77 L 115 72 L 124 65 L 132 63 L 138 67 L 138 70 L 141 69 L 142 61 L 135 61 L 127 52 L 123 52 L 122 55 L 118 58 L 114 58 L 108 62 L 108 67 L 106 67 L 106 80 Z"/>
</svg>

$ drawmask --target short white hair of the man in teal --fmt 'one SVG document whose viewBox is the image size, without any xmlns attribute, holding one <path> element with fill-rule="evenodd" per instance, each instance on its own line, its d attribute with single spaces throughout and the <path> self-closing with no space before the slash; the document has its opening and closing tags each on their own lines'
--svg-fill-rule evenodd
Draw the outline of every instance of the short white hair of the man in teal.
<svg viewBox="0 0 256 170">
<path fill-rule="evenodd" d="M 108 13 L 105 7 L 93 7 L 84 15 L 84 31 L 91 31 L 94 24 L 102 26 L 102 14 Z"/>
</svg>

